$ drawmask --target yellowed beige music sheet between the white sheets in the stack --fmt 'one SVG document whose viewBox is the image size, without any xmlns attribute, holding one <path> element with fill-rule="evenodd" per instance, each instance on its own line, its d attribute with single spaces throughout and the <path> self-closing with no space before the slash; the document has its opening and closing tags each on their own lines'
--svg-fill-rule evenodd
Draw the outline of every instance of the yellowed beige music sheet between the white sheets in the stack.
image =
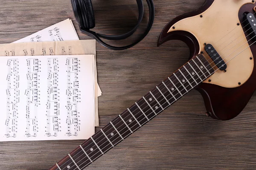
<svg viewBox="0 0 256 170">
<path fill-rule="evenodd" d="M 64 47 L 64 48 L 63 48 Z M 49 49 L 49 50 L 48 50 Z M 68 49 L 68 50 L 66 50 Z M 68 52 L 67 52 L 68 51 Z M 51 41 L 51 42 L 20 42 L 0 44 L 0 56 L 38 56 L 38 55 L 82 55 L 94 54 L 95 58 L 95 126 L 99 126 L 98 97 L 102 92 L 97 83 L 96 41 Z"/>
</svg>

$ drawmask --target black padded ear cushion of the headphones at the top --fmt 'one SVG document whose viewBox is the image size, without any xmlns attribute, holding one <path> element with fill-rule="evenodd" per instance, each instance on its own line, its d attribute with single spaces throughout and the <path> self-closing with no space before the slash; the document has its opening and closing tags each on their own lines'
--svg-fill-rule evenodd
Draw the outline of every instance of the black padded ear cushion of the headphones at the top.
<svg viewBox="0 0 256 170">
<path fill-rule="evenodd" d="M 94 18 L 94 12 L 93 12 L 93 3 L 91 0 L 84 0 L 84 6 L 85 6 L 85 15 L 87 17 L 87 26 L 89 28 L 95 27 L 95 18 Z"/>
</svg>

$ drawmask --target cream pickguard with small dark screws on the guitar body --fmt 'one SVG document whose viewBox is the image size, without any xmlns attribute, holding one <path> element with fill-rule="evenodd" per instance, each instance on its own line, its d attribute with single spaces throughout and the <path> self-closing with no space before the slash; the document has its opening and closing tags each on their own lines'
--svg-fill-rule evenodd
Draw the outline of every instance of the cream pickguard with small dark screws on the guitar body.
<svg viewBox="0 0 256 170">
<path fill-rule="evenodd" d="M 247 3 L 252 1 L 215 0 L 202 14 L 180 20 L 170 28 L 169 32 L 180 30 L 193 34 L 199 42 L 200 51 L 204 51 L 204 43 L 212 44 L 227 63 L 227 72 L 218 70 L 209 78 L 211 82 L 207 79 L 205 83 L 235 88 L 251 76 L 254 61 L 250 57 L 253 54 L 247 48 L 249 44 L 238 18 L 239 9 Z M 209 59 L 205 51 L 203 55 Z M 211 59 L 209 61 L 212 62 Z"/>
</svg>

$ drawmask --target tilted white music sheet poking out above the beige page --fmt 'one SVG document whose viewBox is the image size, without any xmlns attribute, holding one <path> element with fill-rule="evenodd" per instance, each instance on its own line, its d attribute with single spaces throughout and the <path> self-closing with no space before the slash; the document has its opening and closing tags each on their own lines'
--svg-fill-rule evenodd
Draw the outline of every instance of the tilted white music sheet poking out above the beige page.
<svg viewBox="0 0 256 170">
<path fill-rule="evenodd" d="M 60 23 L 57 23 L 53 26 L 49 26 L 48 28 L 29 35 L 28 37 L 17 40 L 14 43 L 64 40 L 79 40 L 79 37 L 70 19 L 61 21 Z"/>
</svg>

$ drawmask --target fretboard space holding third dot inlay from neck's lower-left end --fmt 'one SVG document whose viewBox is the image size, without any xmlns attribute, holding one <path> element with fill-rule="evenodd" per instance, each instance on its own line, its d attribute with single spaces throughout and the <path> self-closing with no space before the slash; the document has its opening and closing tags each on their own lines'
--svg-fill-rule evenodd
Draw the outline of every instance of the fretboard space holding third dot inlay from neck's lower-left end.
<svg viewBox="0 0 256 170">
<path fill-rule="evenodd" d="M 116 144 L 123 140 L 111 123 L 102 128 L 102 133 L 105 133 L 109 141 L 113 144 L 111 144 L 112 146 L 116 146 Z"/>
</svg>

